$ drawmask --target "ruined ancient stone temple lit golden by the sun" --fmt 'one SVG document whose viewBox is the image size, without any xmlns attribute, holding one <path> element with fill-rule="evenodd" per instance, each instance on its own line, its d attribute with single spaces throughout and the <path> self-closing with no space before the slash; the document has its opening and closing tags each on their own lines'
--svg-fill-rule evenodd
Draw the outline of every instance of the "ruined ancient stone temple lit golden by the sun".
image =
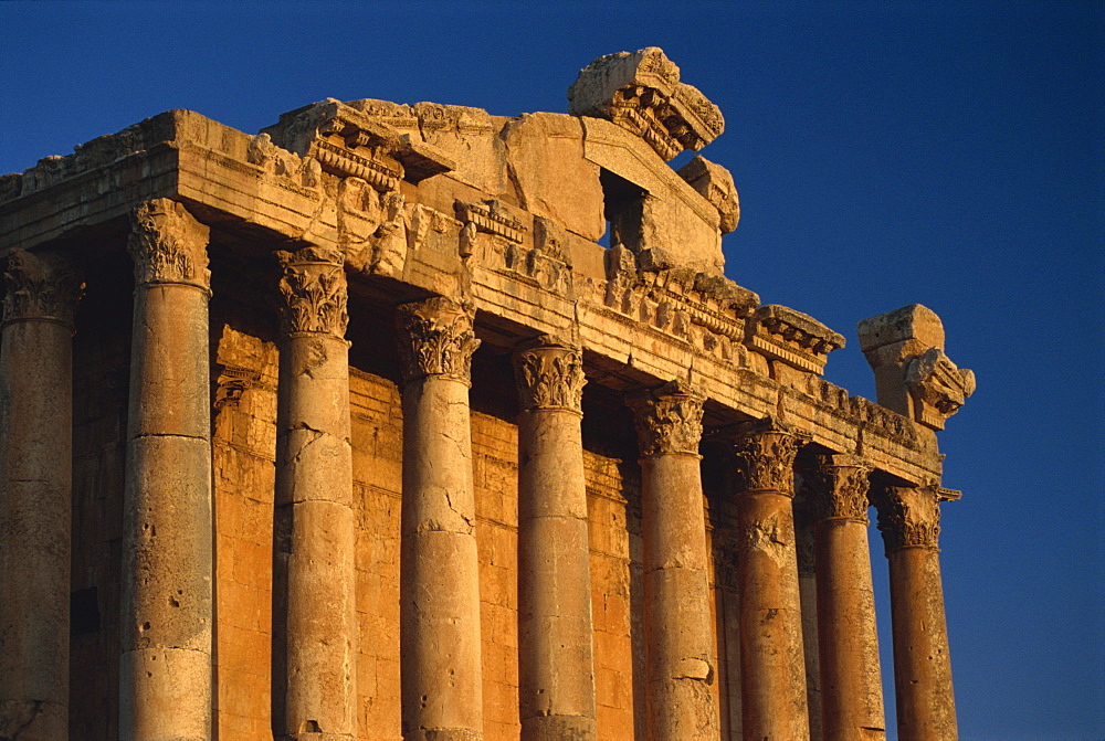
<svg viewBox="0 0 1105 741">
<path fill-rule="evenodd" d="M 0 739 L 956 738 L 919 305 L 723 273 L 720 112 L 172 110 L 0 178 Z M 606 236 L 604 236 L 606 235 Z M 888 559 L 880 667 L 869 557 Z M 951 554 L 951 558 L 957 558 Z"/>
</svg>

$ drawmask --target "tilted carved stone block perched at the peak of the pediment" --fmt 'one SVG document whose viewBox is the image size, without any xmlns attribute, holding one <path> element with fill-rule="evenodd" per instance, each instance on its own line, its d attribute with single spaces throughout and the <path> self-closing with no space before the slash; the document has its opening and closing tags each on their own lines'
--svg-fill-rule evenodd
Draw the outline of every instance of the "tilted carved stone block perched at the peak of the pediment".
<svg viewBox="0 0 1105 741">
<path fill-rule="evenodd" d="M 568 88 L 568 113 L 612 120 L 664 160 L 698 151 L 725 130 L 718 107 L 681 83 L 680 68 L 655 46 L 607 54 L 583 67 Z"/>
</svg>

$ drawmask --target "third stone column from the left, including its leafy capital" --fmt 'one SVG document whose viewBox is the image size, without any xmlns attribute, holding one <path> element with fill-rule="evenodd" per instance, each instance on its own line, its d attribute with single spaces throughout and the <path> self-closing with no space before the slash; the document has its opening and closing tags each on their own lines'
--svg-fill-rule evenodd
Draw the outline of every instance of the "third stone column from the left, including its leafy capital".
<svg viewBox="0 0 1105 741">
<path fill-rule="evenodd" d="M 284 676 L 274 684 L 284 697 L 275 720 L 282 738 L 345 741 L 357 734 L 358 632 L 346 276 L 337 250 L 276 258 L 284 273 L 274 560 L 286 601 L 277 605 Z"/>
</svg>

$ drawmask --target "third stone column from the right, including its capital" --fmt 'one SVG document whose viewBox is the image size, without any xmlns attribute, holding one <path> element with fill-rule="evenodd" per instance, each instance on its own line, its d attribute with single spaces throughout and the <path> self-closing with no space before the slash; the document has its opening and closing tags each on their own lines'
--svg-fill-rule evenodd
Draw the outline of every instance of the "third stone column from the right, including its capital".
<svg viewBox="0 0 1105 741">
<path fill-rule="evenodd" d="M 737 495 L 741 706 L 745 738 L 756 741 L 810 738 L 791 501 L 799 444 L 781 426 L 758 423 L 736 446 L 745 475 Z"/>
</svg>

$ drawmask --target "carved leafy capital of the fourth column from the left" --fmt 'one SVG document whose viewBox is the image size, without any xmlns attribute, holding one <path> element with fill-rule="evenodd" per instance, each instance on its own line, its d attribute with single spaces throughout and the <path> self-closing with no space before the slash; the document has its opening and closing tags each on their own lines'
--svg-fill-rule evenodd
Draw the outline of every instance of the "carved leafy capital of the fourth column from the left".
<svg viewBox="0 0 1105 741">
<path fill-rule="evenodd" d="M 414 381 L 445 375 L 471 383 L 472 353 L 480 340 L 472 331 L 475 308 L 467 301 L 435 296 L 396 309 L 403 377 Z"/>
</svg>

